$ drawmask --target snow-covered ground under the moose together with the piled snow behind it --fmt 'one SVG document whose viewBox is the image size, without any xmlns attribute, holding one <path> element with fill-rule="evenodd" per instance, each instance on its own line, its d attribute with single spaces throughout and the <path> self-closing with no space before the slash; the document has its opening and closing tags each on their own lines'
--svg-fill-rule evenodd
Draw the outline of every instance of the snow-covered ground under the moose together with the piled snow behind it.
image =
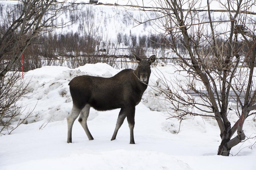
<svg viewBox="0 0 256 170">
<path fill-rule="evenodd" d="M 75 121 L 73 143 L 66 143 L 66 116 L 72 107 L 69 81 L 77 75 L 110 77 L 119 71 L 97 63 L 76 69 L 46 66 L 27 72 L 25 81 L 31 82 L 31 88 L 28 97 L 19 102 L 28 108 L 36 105 L 35 117 L 11 135 L 0 137 L 0 169 L 255 169 L 255 148 L 248 147 L 255 142 L 253 139 L 231 150 L 233 155 L 239 152 L 237 156 L 216 155 L 219 129 L 211 118 L 191 117 L 183 122 L 178 134 L 172 134 L 178 130 L 179 123 L 175 119 L 166 120 L 168 115 L 161 109 L 163 101 L 150 96 L 154 93 L 150 87 L 136 106 L 135 145 L 129 144 L 126 120 L 116 140 L 110 141 L 119 110 L 94 109 L 88 119 L 94 140 L 89 141 Z M 160 63 L 152 68 L 150 85 L 156 84 L 157 71 L 172 79 L 169 73 L 174 71 L 174 65 L 162 67 Z M 183 76 L 179 77 L 185 81 Z M 254 135 L 255 122 L 249 118 L 245 129 L 246 135 Z"/>
</svg>

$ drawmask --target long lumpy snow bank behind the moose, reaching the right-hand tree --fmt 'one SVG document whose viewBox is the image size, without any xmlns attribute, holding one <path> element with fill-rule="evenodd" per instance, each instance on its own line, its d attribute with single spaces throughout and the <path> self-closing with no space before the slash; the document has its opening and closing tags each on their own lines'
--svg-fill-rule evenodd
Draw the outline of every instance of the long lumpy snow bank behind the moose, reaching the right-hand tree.
<svg viewBox="0 0 256 170">
<path fill-rule="evenodd" d="M 185 85 L 189 79 L 187 78 L 187 73 L 176 72 L 178 69 L 179 68 L 174 64 L 157 63 L 157 66 L 151 69 L 152 73 L 149 86 L 141 100 L 147 108 L 152 111 L 158 111 L 159 114 L 166 118 L 170 117 L 170 113 L 178 113 L 170 109 L 172 104 L 165 100 L 164 94 L 159 94 L 158 88 L 166 89 L 165 85 L 167 83 L 173 91 L 176 90 L 181 95 L 184 95 L 183 92 L 179 91 L 177 82 L 181 85 Z M 26 111 L 35 107 L 32 117 L 28 118 L 26 123 L 64 120 L 72 108 L 72 98 L 68 86 L 71 79 L 79 75 L 111 77 L 119 71 L 121 71 L 121 69 L 114 69 L 106 63 L 86 64 L 76 69 L 61 66 L 45 66 L 28 71 L 25 74 L 25 82 L 30 83 L 28 94 L 18 101 L 19 104 L 23 104 L 23 106 L 27 107 L 21 118 L 25 117 Z M 163 77 L 165 77 L 166 80 L 161 80 Z M 164 83 L 163 81 L 166 82 Z M 176 82 L 173 83 L 174 81 Z M 201 86 L 200 82 L 195 83 L 197 87 Z M 204 114 L 195 108 L 194 110 Z M 98 114 L 98 111 L 92 108 L 88 120 L 93 120 Z M 233 116 L 235 115 L 233 114 Z M 211 117 L 203 117 L 202 119 L 201 117 L 187 115 L 186 118 L 189 119 L 188 124 L 195 127 L 195 129 L 200 132 L 206 132 L 204 121 L 208 121 L 214 126 L 217 125 L 216 121 Z M 164 131 L 174 134 L 179 132 L 179 127 L 179 121 L 177 120 L 166 120 L 162 123 L 162 129 Z M 186 126 L 183 127 L 182 125 L 181 127 L 181 129 L 186 129 Z"/>
</svg>

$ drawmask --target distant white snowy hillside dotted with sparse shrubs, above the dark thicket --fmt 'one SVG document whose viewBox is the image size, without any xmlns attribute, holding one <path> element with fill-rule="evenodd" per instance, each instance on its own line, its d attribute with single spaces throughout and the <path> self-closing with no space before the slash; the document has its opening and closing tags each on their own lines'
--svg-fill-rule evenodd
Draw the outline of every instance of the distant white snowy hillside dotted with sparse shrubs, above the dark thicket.
<svg viewBox="0 0 256 170">
<path fill-rule="evenodd" d="M 83 30 L 81 28 L 81 22 L 85 22 L 85 18 L 83 17 L 82 13 L 87 11 L 88 8 L 92 9 L 93 18 L 92 19 L 92 27 L 93 32 L 96 35 L 102 38 L 102 41 L 112 41 L 115 42 L 118 39 L 119 34 L 122 36 L 124 34 L 134 34 L 138 36 L 149 36 L 151 34 L 160 34 L 165 33 L 163 28 L 163 24 L 165 21 L 161 20 L 153 20 L 149 22 L 145 22 L 147 20 L 151 20 L 154 18 L 158 18 L 159 16 L 155 12 L 151 11 L 140 11 L 137 8 L 132 7 L 123 7 L 123 6 L 105 6 L 105 5 L 88 5 L 83 3 L 89 3 L 89 0 L 68 0 L 67 2 L 75 2 L 76 5 L 73 5 L 72 8 L 66 10 L 64 13 L 59 14 L 56 18 L 57 23 L 66 23 L 72 21 L 74 19 L 78 19 L 72 25 L 67 24 L 67 27 L 62 27 L 59 29 L 55 29 L 54 32 L 58 34 L 64 34 L 67 32 L 77 32 L 77 33 L 84 33 L 88 32 L 89 30 Z M 119 4 L 119 5 L 140 5 L 140 6 L 147 6 L 147 7 L 165 7 L 161 1 L 152 1 L 152 0 L 138 0 L 138 1 L 131 1 L 131 0 L 99 0 L 99 3 L 103 4 Z M 5 20 L 6 12 L 10 12 L 13 5 L 17 4 L 18 1 L 3 1 L 0 0 L 0 12 L 1 17 L 0 21 Z M 188 7 L 188 3 L 183 4 L 183 9 Z M 207 9 L 206 1 L 200 3 L 198 1 L 197 5 L 200 9 Z M 195 7 L 196 7 L 195 6 Z M 79 9 L 79 10 L 74 10 Z M 217 1 L 210 1 L 210 9 L 224 9 L 224 6 L 219 4 Z M 252 12 L 256 11 L 256 6 L 252 7 Z M 91 15 L 91 14 L 90 14 Z M 200 22 L 209 21 L 207 16 L 207 12 L 200 13 Z M 90 17 L 90 16 L 89 16 Z M 221 21 L 221 20 L 228 20 L 228 14 L 225 12 L 211 12 L 211 17 L 214 21 Z M 252 16 L 254 17 L 254 16 Z M 142 22 L 140 24 L 139 22 Z M 145 22 L 145 23 L 144 23 Z M 161 23 L 163 22 L 163 23 Z M 189 24 L 189 21 L 186 21 L 186 24 Z M 195 21 L 197 22 L 197 21 Z M 222 30 L 222 28 L 229 28 L 230 25 L 228 22 L 223 23 L 216 23 L 218 26 L 216 29 Z M 97 30 L 97 31 L 96 31 Z M 207 30 L 205 30 L 207 31 Z M 210 30 L 208 30 L 210 31 Z M 82 35 L 80 35 L 82 36 Z M 220 35 L 221 36 L 221 35 Z M 117 47 L 124 47 L 124 43 L 118 43 Z M 104 47 L 104 46 L 103 46 Z"/>
</svg>

